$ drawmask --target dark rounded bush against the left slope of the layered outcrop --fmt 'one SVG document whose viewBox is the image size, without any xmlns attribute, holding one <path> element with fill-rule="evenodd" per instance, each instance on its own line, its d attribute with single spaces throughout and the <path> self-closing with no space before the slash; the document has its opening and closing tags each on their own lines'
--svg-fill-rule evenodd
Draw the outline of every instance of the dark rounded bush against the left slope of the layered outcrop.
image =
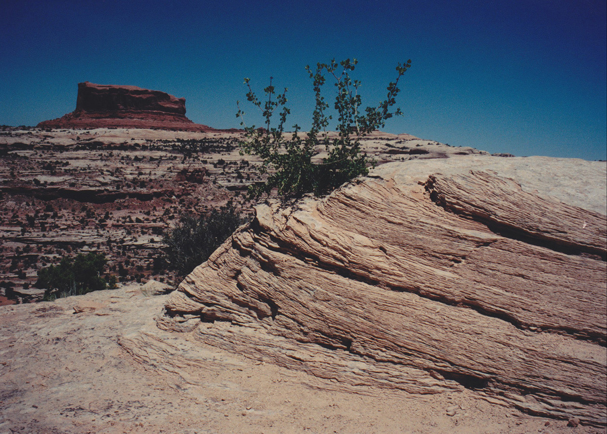
<svg viewBox="0 0 607 434">
<path fill-rule="evenodd" d="M 231 203 L 200 217 L 181 216 L 162 240 L 168 269 L 178 277 L 188 275 L 245 222 Z"/>
</svg>

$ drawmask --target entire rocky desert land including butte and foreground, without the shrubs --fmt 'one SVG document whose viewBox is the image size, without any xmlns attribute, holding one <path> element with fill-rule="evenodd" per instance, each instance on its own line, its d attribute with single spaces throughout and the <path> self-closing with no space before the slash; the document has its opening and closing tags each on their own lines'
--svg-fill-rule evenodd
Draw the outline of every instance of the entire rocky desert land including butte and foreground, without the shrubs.
<svg viewBox="0 0 607 434">
<path fill-rule="evenodd" d="M 604 162 L 375 133 L 367 177 L 250 201 L 242 131 L 185 113 L 85 82 L 2 127 L 0 432 L 606 432 Z M 226 204 L 172 291 L 163 236 Z M 26 303 L 84 252 L 118 289 Z"/>
</svg>

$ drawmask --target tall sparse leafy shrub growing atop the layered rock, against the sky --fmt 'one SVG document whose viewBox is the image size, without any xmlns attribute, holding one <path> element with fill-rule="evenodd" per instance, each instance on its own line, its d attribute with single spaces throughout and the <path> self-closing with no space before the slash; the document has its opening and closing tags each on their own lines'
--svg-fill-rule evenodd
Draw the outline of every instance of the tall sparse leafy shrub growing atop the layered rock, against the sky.
<svg viewBox="0 0 607 434">
<path fill-rule="evenodd" d="M 359 94 L 361 82 L 353 80 L 351 74 L 358 62 L 356 59 L 337 63 L 318 63 L 316 69 L 306 66 L 306 71 L 313 82 L 316 103 L 312 112 L 312 125 L 307 134 L 300 134 L 300 126 L 293 126 L 293 133 L 285 132 L 285 123 L 290 109 L 287 108 L 287 88 L 277 93 L 272 84 L 263 89 L 265 102 L 262 102 L 251 88 L 250 80 L 245 78 L 248 87 L 246 99 L 262 112 L 265 126 L 245 125 L 245 112 L 237 102 L 239 117 L 245 128 L 245 140 L 240 142 L 241 153 L 256 155 L 262 160 L 258 167 L 262 175 L 267 174 L 265 182 L 257 182 L 249 187 L 250 196 L 269 194 L 276 188 L 279 195 L 299 197 L 305 193 L 322 196 L 350 181 L 356 176 L 368 173 L 368 167 L 375 164 L 361 152 L 360 140 L 367 134 L 385 126 L 386 120 L 402 114 L 401 109 L 392 111 L 396 104 L 396 95 L 400 92 L 398 81 L 411 66 L 411 60 L 396 66 L 396 80 L 387 86 L 387 97 L 377 106 L 362 109 L 362 98 Z M 334 81 L 336 96 L 334 98 L 334 115 L 337 120 L 337 137 L 330 138 L 327 128 L 333 114 L 328 114 L 329 104 L 322 94 L 322 87 L 327 81 L 325 74 Z M 274 114 L 278 116 L 277 126 L 272 126 Z M 317 147 L 324 146 L 328 156 L 319 164 L 312 158 L 317 154 Z"/>
</svg>

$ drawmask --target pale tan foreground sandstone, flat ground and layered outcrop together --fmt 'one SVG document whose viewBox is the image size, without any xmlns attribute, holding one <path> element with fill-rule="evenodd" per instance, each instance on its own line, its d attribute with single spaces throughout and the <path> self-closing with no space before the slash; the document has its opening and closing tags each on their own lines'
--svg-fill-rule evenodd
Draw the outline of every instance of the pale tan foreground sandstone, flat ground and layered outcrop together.
<svg viewBox="0 0 607 434">
<path fill-rule="evenodd" d="M 393 162 L 257 204 L 172 294 L 1 306 L 0 432 L 605 433 L 605 176 Z"/>
</svg>

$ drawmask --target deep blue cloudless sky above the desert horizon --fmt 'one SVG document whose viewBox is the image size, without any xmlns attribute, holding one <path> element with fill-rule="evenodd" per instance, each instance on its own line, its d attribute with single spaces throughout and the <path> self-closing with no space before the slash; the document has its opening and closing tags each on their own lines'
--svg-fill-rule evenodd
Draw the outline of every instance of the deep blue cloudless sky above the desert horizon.
<svg viewBox="0 0 607 434">
<path fill-rule="evenodd" d="M 185 97 L 194 122 L 237 127 L 243 77 L 261 90 L 273 75 L 289 125 L 309 126 L 306 64 L 358 58 L 371 105 L 410 58 L 405 114 L 385 131 L 606 159 L 606 15 L 605 0 L 2 0 L 0 124 L 73 111 L 88 80 Z"/>
</svg>

